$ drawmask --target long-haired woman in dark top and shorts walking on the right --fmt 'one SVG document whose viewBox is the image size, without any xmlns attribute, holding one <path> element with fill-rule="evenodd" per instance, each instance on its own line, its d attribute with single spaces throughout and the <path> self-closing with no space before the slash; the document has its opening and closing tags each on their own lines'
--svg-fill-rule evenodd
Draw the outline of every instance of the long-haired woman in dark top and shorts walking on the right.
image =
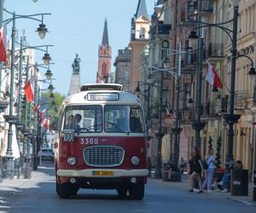
<svg viewBox="0 0 256 213">
<path fill-rule="evenodd" d="M 191 185 L 189 193 L 194 192 L 195 181 L 198 182 L 198 186 L 199 186 L 198 193 L 203 193 L 202 183 L 201 183 L 201 173 L 203 171 L 204 170 L 203 170 L 199 149 L 197 147 L 194 147 L 192 151 L 192 157 L 189 159 L 189 164 L 188 164 L 188 175 L 189 175 L 189 181 Z"/>
</svg>

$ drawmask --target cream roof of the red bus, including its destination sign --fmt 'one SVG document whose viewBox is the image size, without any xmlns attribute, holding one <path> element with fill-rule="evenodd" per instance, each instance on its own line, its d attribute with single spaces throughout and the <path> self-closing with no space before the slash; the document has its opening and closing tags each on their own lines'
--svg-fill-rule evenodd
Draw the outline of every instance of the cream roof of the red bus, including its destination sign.
<svg viewBox="0 0 256 213">
<path fill-rule="evenodd" d="M 103 85 L 106 84 L 106 85 Z M 98 86 L 98 87 L 97 87 Z M 121 84 L 117 83 L 96 83 L 86 84 L 81 87 L 85 90 L 79 93 L 69 95 L 63 101 L 64 107 L 69 105 L 81 105 L 81 104 L 129 104 L 129 105 L 141 105 L 141 101 L 137 95 L 133 95 L 130 92 L 125 92 L 122 89 Z"/>
</svg>

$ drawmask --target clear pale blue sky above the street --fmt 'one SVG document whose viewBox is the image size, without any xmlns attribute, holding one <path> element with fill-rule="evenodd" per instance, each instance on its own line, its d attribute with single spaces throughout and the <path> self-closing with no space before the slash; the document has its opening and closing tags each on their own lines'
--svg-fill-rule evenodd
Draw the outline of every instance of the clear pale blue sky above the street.
<svg viewBox="0 0 256 213">
<path fill-rule="evenodd" d="M 152 14 L 154 0 L 146 0 L 148 14 Z M 49 55 L 54 65 L 50 66 L 56 78 L 53 82 L 55 92 L 67 95 L 73 72 L 75 54 L 79 54 L 81 84 L 96 83 L 98 48 L 102 43 L 104 20 L 108 20 L 108 40 L 112 47 L 113 62 L 118 49 L 124 49 L 130 42 L 131 18 L 136 13 L 138 0 L 5 0 L 4 8 L 16 14 L 51 13 L 44 17 L 48 28 L 44 39 L 38 37 L 39 22 L 16 20 L 16 28 L 21 33 L 26 30 L 26 39 L 31 46 L 52 44 Z M 3 14 L 3 18 L 9 15 Z M 8 26 L 9 31 L 11 25 Z M 44 53 L 36 51 L 38 64 L 43 63 Z M 45 69 L 40 73 L 44 76 Z M 44 85 L 46 88 L 47 85 Z"/>
</svg>

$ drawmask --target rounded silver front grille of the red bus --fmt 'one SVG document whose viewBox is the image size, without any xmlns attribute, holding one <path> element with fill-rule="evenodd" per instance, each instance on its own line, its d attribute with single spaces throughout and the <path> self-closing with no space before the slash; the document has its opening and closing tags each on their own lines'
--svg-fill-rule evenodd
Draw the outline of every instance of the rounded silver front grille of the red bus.
<svg viewBox="0 0 256 213">
<path fill-rule="evenodd" d="M 118 166 L 123 163 L 125 150 L 116 146 L 92 146 L 84 148 L 83 157 L 90 166 Z"/>
</svg>

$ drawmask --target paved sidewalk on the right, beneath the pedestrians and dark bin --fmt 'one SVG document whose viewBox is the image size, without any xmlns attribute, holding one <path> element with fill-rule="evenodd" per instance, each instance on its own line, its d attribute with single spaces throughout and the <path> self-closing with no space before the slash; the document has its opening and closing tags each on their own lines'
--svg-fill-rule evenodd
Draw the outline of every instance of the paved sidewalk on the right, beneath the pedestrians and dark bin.
<svg viewBox="0 0 256 213">
<path fill-rule="evenodd" d="M 169 186 L 172 186 L 174 188 L 178 188 L 180 190 L 189 191 L 190 183 L 188 176 L 183 175 L 181 182 L 171 182 L 171 181 L 163 181 L 162 179 L 154 179 L 154 177 L 150 177 L 150 180 L 158 181 L 162 184 L 166 184 Z M 218 196 L 223 199 L 231 199 L 236 202 L 240 202 L 243 204 L 251 205 L 253 207 L 256 207 L 256 201 L 253 202 L 253 183 L 249 182 L 248 185 L 248 196 L 231 196 L 231 193 L 222 193 L 220 191 L 212 191 L 211 193 L 208 193 L 207 191 L 204 191 L 205 194 L 209 194 L 212 196 Z"/>
</svg>

